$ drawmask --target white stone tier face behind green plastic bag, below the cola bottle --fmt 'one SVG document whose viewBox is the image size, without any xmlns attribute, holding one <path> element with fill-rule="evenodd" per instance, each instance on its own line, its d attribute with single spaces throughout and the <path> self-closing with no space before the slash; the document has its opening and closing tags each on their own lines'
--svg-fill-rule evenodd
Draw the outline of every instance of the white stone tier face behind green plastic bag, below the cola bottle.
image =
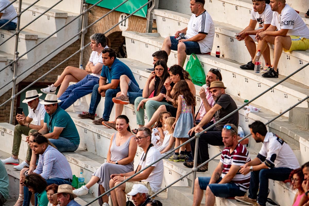
<svg viewBox="0 0 309 206">
<path fill-rule="evenodd" d="M 157 33 L 123 32 L 122 35 L 126 37 L 126 48 L 128 58 L 130 59 L 150 64 L 151 59 L 149 57 L 152 53 L 162 48 L 163 38 Z M 177 63 L 176 57 L 177 53 L 172 51 L 169 56 L 168 66 Z M 224 58 L 216 58 L 210 55 L 197 55 L 197 57 L 201 62 L 205 74 L 208 73 L 210 68 L 219 69 L 223 77 L 223 82 L 227 87 L 227 93 L 242 99 L 250 100 L 284 78 L 283 76 L 271 79 L 263 78 L 260 74 L 240 69 L 239 64 Z M 230 79 L 230 81 L 226 81 L 226 79 Z M 252 88 L 252 90 L 248 90 L 248 88 Z M 288 79 L 253 103 L 263 105 L 267 109 L 279 114 L 305 98 L 308 90 L 308 86 Z M 265 104 L 265 102 L 272 102 L 272 104 Z M 307 108 L 308 102 L 306 101 L 306 103 L 302 103 L 298 107 Z M 288 116 L 288 113 L 285 116 Z"/>
</svg>

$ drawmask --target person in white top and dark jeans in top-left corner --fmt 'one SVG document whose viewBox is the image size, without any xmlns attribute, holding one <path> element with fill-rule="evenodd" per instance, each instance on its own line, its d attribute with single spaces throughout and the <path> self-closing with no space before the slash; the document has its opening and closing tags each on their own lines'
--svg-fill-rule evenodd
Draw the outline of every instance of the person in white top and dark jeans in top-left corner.
<svg viewBox="0 0 309 206">
<path fill-rule="evenodd" d="M 11 2 L 9 0 L 0 0 L 0 27 L 14 18 L 11 22 L 7 23 L 4 27 L 1 28 L 4 30 L 16 29 L 17 13 L 13 5 L 7 6 L 10 3 Z"/>
</svg>

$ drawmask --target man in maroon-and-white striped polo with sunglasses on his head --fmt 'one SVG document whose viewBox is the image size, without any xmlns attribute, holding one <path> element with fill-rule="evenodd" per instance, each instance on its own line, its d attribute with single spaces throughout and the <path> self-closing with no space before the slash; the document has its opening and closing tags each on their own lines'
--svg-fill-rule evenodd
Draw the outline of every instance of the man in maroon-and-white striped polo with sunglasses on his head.
<svg viewBox="0 0 309 206">
<path fill-rule="evenodd" d="M 226 124 L 222 129 L 225 148 L 211 177 L 198 177 L 194 183 L 193 206 L 201 204 L 206 190 L 205 205 L 213 206 L 215 197 L 235 197 L 246 193 L 250 175 L 239 172 L 240 166 L 251 161 L 248 150 L 237 141 L 237 127 Z M 221 175 L 221 177 L 220 177 Z"/>
</svg>

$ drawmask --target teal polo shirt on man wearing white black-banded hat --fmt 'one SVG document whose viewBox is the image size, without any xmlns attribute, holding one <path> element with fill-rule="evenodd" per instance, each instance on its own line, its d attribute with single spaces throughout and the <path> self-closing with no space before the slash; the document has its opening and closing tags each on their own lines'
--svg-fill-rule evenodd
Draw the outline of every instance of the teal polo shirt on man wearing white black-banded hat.
<svg viewBox="0 0 309 206">
<path fill-rule="evenodd" d="M 66 111 L 61 109 L 61 107 L 58 106 L 57 110 L 52 115 L 49 115 L 46 112 L 44 117 L 44 123 L 47 124 L 49 133 L 54 131 L 54 127 L 61 127 L 63 128 L 63 130 L 60 133 L 59 137 L 66 138 L 75 145 L 79 144 L 79 135 L 75 124 L 71 119 L 70 115 Z"/>
</svg>

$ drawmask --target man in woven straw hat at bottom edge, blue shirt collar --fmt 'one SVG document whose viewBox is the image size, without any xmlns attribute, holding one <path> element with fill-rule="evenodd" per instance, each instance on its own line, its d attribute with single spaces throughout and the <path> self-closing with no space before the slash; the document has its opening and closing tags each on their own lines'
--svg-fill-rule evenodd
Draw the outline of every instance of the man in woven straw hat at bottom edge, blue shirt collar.
<svg viewBox="0 0 309 206">
<path fill-rule="evenodd" d="M 73 189 L 71 185 L 63 184 L 59 185 L 57 195 L 57 201 L 60 206 L 81 206 L 75 202 L 74 198 L 77 195 L 73 194 Z"/>
</svg>

